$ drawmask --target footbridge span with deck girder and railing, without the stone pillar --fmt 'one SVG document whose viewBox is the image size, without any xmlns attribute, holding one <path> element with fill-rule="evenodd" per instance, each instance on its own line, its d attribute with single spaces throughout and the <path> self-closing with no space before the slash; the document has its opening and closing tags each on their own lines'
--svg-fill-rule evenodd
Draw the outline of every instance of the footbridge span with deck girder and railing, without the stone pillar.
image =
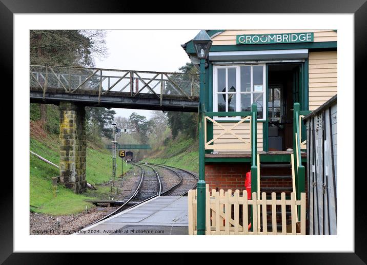
<svg viewBox="0 0 367 265">
<path fill-rule="evenodd" d="M 197 112 L 199 75 L 30 65 L 30 102 Z"/>
</svg>

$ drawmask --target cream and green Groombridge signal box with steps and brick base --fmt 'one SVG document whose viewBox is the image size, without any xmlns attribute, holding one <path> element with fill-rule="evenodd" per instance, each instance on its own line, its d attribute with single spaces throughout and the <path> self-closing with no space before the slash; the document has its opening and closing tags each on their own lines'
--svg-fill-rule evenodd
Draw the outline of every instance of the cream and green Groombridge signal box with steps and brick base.
<svg viewBox="0 0 367 265">
<path fill-rule="evenodd" d="M 337 30 L 205 32 L 211 41 L 205 61 L 199 34 L 181 46 L 203 70 L 199 170 L 207 188 L 307 196 L 303 118 L 337 94 Z"/>
</svg>

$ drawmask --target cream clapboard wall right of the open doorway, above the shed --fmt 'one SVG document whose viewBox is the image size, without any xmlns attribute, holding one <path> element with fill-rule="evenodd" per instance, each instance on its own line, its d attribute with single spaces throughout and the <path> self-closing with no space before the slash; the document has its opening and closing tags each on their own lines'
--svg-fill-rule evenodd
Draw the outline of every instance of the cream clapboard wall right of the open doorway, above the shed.
<svg viewBox="0 0 367 265">
<path fill-rule="evenodd" d="M 310 52 L 309 105 L 314 110 L 337 93 L 337 51 Z"/>
</svg>

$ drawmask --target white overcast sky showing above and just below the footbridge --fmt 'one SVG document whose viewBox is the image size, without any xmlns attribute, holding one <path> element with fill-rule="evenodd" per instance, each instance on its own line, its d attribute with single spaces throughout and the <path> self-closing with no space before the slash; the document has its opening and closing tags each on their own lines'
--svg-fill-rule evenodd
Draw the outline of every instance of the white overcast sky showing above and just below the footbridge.
<svg viewBox="0 0 367 265">
<path fill-rule="evenodd" d="M 106 35 L 108 56 L 95 59 L 98 68 L 174 72 L 190 62 L 180 46 L 200 30 L 109 30 Z M 149 119 L 151 110 L 113 108 L 115 117 L 129 118 L 138 112 Z"/>
</svg>

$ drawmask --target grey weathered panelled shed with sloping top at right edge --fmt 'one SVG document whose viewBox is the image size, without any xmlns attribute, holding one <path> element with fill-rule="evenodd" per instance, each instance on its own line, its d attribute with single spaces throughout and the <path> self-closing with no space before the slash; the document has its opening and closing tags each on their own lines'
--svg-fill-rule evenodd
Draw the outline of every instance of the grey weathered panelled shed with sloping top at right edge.
<svg viewBox="0 0 367 265">
<path fill-rule="evenodd" d="M 303 119 L 307 128 L 309 234 L 337 234 L 337 95 Z"/>
</svg>

